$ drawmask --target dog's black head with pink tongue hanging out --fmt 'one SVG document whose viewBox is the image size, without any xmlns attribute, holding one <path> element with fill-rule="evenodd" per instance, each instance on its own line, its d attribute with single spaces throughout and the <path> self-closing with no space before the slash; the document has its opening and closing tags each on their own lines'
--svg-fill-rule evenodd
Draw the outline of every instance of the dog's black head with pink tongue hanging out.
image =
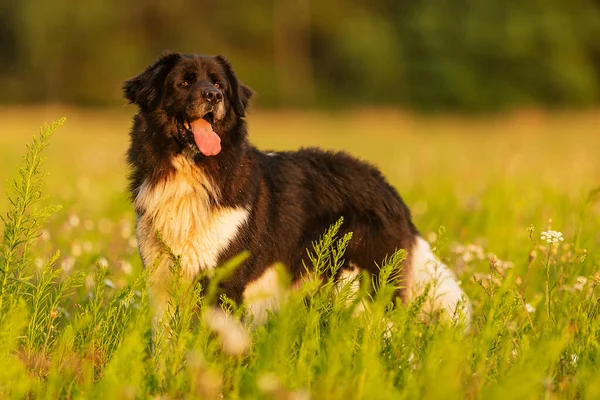
<svg viewBox="0 0 600 400">
<path fill-rule="evenodd" d="M 252 91 L 222 56 L 167 53 L 123 84 L 125 98 L 142 114 L 165 116 L 173 140 L 206 156 L 221 150 L 221 137 L 245 116 Z"/>
</svg>

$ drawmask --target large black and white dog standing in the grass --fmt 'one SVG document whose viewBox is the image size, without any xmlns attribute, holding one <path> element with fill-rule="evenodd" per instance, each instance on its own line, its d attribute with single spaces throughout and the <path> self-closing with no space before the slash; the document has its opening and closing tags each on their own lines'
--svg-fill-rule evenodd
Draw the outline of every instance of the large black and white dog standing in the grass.
<svg viewBox="0 0 600 400">
<path fill-rule="evenodd" d="M 156 232 L 181 256 L 189 280 L 248 251 L 221 286 L 264 321 L 281 296 L 274 265 L 285 265 L 292 282 L 300 282 L 307 248 L 343 217 L 342 233 L 353 237 L 335 278 L 377 275 L 376 263 L 405 249 L 397 295 L 407 301 L 433 282 L 431 308 L 455 315 L 466 303 L 462 314 L 470 320 L 456 277 L 436 259 L 378 169 L 343 152 L 263 152 L 250 144 L 245 115 L 253 91 L 224 57 L 166 53 L 127 80 L 123 91 L 138 107 L 127 159 L 146 267 L 163 249 Z M 161 310 L 169 274 L 168 260 L 161 260 L 150 279 Z"/>
</svg>

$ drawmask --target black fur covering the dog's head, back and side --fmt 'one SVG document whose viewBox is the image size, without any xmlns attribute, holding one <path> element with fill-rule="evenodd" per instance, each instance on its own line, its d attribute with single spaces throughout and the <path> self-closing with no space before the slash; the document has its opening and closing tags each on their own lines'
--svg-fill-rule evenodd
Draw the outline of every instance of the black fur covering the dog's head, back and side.
<svg viewBox="0 0 600 400">
<path fill-rule="evenodd" d="M 224 94 L 225 115 L 214 123 L 222 151 L 211 157 L 194 155 L 221 190 L 221 200 L 214 199 L 213 207 L 251 210 L 247 224 L 219 255 L 223 262 L 243 250 L 250 252 L 224 284 L 230 297 L 240 301 L 247 283 L 275 262 L 284 263 L 298 279 L 306 249 L 342 216 L 343 230 L 354 233 L 346 265 L 376 274 L 376 262 L 400 248 L 410 252 L 418 235 L 410 212 L 376 168 L 341 152 L 308 148 L 266 154 L 249 144 L 243 117 L 252 91 L 221 56 L 166 54 L 125 82 L 125 97 L 139 106 L 128 150 L 134 198 L 142 182 L 158 184 L 173 174 L 170 159 L 190 145 L 178 127 L 181 118 L 189 117 L 182 115 L 186 104 L 198 95 L 178 90 L 176 82 L 192 76 L 198 88 L 219 81 Z M 402 273 L 407 272 L 404 268 Z"/>
</svg>

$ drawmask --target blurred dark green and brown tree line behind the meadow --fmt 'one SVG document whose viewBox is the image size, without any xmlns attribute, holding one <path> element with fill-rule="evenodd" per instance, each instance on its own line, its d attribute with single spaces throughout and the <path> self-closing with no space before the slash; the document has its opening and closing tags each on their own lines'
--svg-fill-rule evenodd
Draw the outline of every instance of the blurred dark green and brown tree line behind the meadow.
<svg viewBox="0 0 600 400">
<path fill-rule="evenodd" d="M 264 106 L 600 100 L 600 0 L 2 0 L 0 101 L 120 104 L 165 49 L 225 55 Z"/>
</svg>

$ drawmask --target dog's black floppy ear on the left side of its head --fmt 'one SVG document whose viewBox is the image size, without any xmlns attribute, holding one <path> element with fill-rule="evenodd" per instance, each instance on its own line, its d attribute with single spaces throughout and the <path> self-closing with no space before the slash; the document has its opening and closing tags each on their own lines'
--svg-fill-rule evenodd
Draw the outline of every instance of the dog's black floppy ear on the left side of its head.
<svg viewBox="0 0 600 400">
<path fill-rule="evenodd" d="M 152 111 L 160 103 L 163 83 L 181 54 L 167 52 L 144 72 L 123 83 L 125 98 L 143 111 Z"/>
</svg>

